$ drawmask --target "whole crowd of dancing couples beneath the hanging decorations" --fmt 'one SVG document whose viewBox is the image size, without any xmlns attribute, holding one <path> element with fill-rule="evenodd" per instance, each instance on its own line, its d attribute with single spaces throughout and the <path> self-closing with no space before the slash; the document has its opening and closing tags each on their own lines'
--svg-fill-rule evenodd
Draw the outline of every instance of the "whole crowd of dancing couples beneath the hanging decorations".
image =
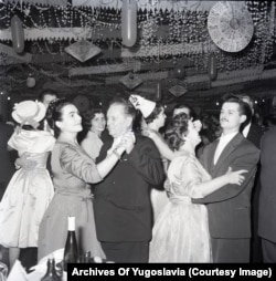
<svg viewBox="0 0 276 281">
<path fill-rule="evenodd" d="M 11 115 L 13 132 L 0 127 L 2 166 L 17 168 L 0 170 L 10 268 L 24 249 L 36 262 L 64 248 L 68 216 L 79 251 L 114 262 L 276 262 L 275 118 L 264 134 L 250 96 L 229 94 L 213 122 L 139 95 L 81 114 L 54 91 Z"/>
</svg>

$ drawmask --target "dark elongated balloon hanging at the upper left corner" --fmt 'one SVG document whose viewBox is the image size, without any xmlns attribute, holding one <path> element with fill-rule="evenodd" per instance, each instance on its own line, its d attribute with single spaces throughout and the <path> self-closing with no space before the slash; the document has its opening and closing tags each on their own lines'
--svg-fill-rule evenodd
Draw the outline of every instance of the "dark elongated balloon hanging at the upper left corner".
<svg viewBox="0 0 276 281">
<path fill-rule="evenodd" d="M 11 38 L 13 50 L 17 53 L 22 53 L 24 50 L 24 30 L 18 15 L 13 15 L 11 19 Z"/>
</svg>

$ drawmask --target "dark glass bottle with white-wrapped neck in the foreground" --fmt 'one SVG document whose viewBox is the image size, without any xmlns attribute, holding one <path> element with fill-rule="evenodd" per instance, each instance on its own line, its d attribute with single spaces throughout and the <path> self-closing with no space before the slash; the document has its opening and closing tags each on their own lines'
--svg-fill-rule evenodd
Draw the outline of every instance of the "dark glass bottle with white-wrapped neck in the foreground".
<svg viewBox="0 0 276 281">
<path fill-rule="evenodd" d="M 67 263 L 75 263 L 78 259 L 76 233 L 75 233 L 75 217 L 68 217 L 68 231 L 63 256 L 63 270 L 67 271 Z"/>
</svg>

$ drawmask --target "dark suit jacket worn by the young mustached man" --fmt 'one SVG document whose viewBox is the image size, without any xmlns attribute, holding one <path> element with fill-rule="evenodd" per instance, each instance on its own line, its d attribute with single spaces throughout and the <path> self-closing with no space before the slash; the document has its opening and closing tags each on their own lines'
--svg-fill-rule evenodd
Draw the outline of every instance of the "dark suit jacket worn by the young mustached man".
<svg viewBox="0 0 276 281">
<path fill-rule="evenodd" d="M 219 139 L 208 145 L 201 162 L 212 178 L 232 170 L 246 169 L 241 186 L 229 184 L 194 202 L 205 204 L 209 211 L 210 233 L 212 238 L 251 237 L 251 194 L 259 158 L 259 150 L 242 134 L 237 134 L 223 149 L 216 165 L 213 164 Z"/>
</svg>

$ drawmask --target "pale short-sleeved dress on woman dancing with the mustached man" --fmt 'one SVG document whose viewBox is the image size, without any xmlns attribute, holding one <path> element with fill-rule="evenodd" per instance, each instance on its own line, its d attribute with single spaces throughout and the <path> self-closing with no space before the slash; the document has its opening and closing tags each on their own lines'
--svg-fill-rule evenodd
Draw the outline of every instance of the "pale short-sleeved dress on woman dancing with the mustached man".
<svg viewBox="0 0 276 281">
<path fill-rule="evenodd" d="M 164 184 L 169 202 L 152 230 L 150 262 L 211 262 L 208 210 L 192 204 L 195 185 L 211 179 L 194 155 L 173 158 Z"/>
</svg>

